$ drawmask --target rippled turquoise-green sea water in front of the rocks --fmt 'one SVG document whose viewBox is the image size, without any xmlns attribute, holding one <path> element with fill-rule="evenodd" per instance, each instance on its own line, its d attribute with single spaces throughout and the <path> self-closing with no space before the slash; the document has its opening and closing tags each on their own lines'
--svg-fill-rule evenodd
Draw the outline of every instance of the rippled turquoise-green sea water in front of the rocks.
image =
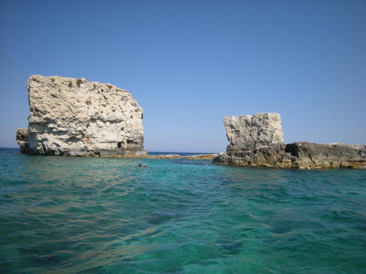
<svg viewBox="0 0 366 274">
<path fill-rule="evenodd" d="M 18 149 L 0 164 L 0 273 L 366 272 L 365 170 Z"/>
</svg>

